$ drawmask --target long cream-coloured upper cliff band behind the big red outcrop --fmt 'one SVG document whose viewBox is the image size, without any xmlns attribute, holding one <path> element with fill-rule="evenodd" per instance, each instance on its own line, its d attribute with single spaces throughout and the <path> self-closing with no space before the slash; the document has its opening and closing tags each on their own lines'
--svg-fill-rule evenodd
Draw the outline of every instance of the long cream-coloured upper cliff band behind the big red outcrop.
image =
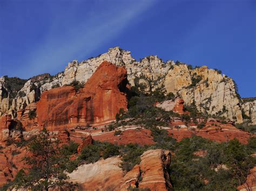
<svg viewBox="0 0 256 191">
<path fill-rule="evenodd" d="M 256 124 L 255 106 L 244 105 L 240 100 L 234 81 L 219 70 L 206 66 L 192 69 L 191 66 L 174 61 L 164 62 L 157 56 L 147 56 L 136 61 L 129 51 L 119 47 L 110 48 L 107 53 L 82 62 L 72 61 L 64 72 L 55 76 L 39 75 L 28 80 L 20 93 L 13 99 L 0 96 L 1 114 L 17 116 L 17 111 L 24 110 L 26 105 L 38 100 L 38 95 L 52 87 L 70 84 L 73 80 L 86 82 L 103 61 L 127 69 L 127 79 L 131 86 L 136 84 L 145 91 L 165 88 L 167 93 L 179 94 L 185 104 L 193 102 L 198 110 L 211 115 L 221 115 L 242 123 L 242 108 Z M 4 90 L 4 79 L 0 79 L 0 89 Z M 0 91 L 1 93 L 1 91 Z M 255 104 L 254 104 L 255 105 Z"/>
</svg>

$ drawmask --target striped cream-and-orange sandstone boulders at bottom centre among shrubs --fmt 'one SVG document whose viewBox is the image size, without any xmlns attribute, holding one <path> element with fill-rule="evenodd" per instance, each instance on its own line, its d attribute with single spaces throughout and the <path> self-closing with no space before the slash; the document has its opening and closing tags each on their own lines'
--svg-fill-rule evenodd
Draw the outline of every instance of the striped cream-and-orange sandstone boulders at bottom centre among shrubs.
<svg viewBox="0 0 256 191">
<path fill-rule="evenodd" d="M 141 156 L 139 165 L 125 175 L 119 164 L 120 157 L 99 160 L 94 164 L 79 166 L 69 174 L 70 181 L 77 182 L 85 190 L 127 190 L 129 187 L 151 190 L 172 190 L 166 168 L 171 162 L 171 153 L 164 150 L 149 150 Z"/>
</svg>

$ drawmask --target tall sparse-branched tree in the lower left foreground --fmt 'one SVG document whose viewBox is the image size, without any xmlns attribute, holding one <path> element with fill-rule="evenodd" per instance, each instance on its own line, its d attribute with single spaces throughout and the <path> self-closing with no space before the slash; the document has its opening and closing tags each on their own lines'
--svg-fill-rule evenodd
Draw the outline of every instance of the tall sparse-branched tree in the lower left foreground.
<svg viewBox="0 0 256 191">
<path fill-rule="evenodd" d="M 71 146 L 71 148 L 73 145 Z M 31 155 L 25 157 L 24 162 L 30 166 L 18 172 L 14 181 L 10 181 L 2 188 L 25 188 L 32 190 L 49 190 L 52 187 L 63 189 L 64 187 L 72 188 L 74 185 L 68 181 L 65 171 L 70 168 L 70 153 L 73 149 L 60 148 L 58 142 L 53 142 L 49 132 L 43 129 L 39 135 L 33 139 L 28 150 Z M 18 154 L 13 151 L 12 155 Z"/>
</svg>

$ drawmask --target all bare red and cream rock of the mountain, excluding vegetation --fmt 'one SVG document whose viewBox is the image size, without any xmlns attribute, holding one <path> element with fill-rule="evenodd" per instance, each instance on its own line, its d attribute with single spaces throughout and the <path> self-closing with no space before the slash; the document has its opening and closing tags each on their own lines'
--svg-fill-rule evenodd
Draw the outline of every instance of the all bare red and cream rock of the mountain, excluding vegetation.
<svg viewBox="0 0 256 191">
<path fill-rule="evenodd" d="M 248 116 L 254 124 L 255 101 L 242 104 L 233 80 L 207 67 L 192 69 L 179 62 L 165 63 L 157 56 L 148 56 L 138 62 L 130 52 L 116 47 L 97 58 L 80 63 L 73 61 L 56 76 L 43 74 L 32 77 L 19 92 L 9 92 L 7 97 L 6 92 L 10 88 L 5 80 L 4 77 L 0 79 L 0 186 L 14 179 L 18 170 L 24 167 L 21 159 L 28 154 L 25 147 L 18 147 L 12 142 L 29 140 L 43 127 L 56 135 L 61 144 L 71 140 L 79 143 L 78 153 L 93 140 L 156 148 L 154 132 L 149 126 L 138 123 L 141 116 L 110 124 L 120 109 L 127 110 L 130 85 L 146 92 L 160 88 L 166 89 L 166 93 L 177 94 L 172 100 L 154 102 L 153 105 L 178 114 L 174 117 L 170 112 L 166 126 L 154 126 L 165 129 L 166 136 L 178 142 L 197 135 L 215 142 L 237 138 L 240 143 L 247 144 L 248 139 L 253 137 L 251 133 L 235 128 L 234 119 L 241 123 L 242 116 Z M 85 84 L 80 89 L 66 86 L 74 80 Z M 196 105 L 201 112 L 218 114 L 227 119 L 192 118 L 184 104 Z M 188 117 L 186 121 L 184 116 Z M 152 118 L 155 122 L 162 120 L 158 116 Z M 199 128 L 203 122 L 204 125 Z M 167 172 L 170 151 L 149 150 L 140 158 L 141 162 L 128 173 L 119 167 L 121 158 L 113 157 L 82 165 L 70 177 L 78 182 L 81 189 L 126 190 L 137 187 L 171 190 Z"/>
</svg>

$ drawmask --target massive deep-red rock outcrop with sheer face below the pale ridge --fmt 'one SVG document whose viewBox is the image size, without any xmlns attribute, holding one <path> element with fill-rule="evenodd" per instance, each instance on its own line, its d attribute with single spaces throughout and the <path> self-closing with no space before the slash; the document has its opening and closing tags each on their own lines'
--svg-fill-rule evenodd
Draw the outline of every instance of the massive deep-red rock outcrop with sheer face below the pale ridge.
<svg viewBox="0 0 256 191">
<path fill-rule="evenodd" d="M 126 70 L 105 61 L 77 94 L 68 86 L 44 91 L 37 103 L 38 124 L 59 130 L 112 121 L 127 109 L 126 84 Z"/>
</svg>

